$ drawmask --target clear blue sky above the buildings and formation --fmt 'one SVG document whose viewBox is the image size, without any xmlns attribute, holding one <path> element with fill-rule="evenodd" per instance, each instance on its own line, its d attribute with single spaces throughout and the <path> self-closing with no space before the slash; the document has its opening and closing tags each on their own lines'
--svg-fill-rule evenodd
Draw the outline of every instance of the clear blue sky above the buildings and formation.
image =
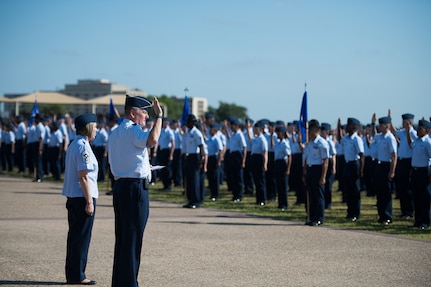
<svg viewBox="0 0 431 287">
<path fill-rule="evenodd" d="M 431 116 L 429 0 L 2 0 L 0 95 L 108 79 L 253 119 Z"/>
</svg>

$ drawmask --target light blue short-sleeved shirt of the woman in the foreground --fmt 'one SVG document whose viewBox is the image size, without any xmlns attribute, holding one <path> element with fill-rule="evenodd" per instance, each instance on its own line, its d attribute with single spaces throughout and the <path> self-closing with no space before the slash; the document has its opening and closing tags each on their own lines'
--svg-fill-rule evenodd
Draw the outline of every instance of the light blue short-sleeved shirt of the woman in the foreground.
<svg viewBox="0 0 431 287">
<path fill-rule="evenodd" d="M 62 194 L 67 197 L 84 197 L 79 183 L 78 172 L 88 170 L 91 196 L 99 197 L 97 174 L 99 166 L 96 156 L 85 137 L 79 135 L 70 144 L 66 152 L 66 169 L 64 171 L 64 185 Z"/>
</svg>

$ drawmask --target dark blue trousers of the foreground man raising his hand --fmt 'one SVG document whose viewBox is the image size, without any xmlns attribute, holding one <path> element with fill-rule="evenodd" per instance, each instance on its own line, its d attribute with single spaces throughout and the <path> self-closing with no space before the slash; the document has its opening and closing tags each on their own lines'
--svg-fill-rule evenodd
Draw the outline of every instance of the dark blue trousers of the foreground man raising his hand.
<svg viewBox="0 0 431 287">
<path fill-rule="evenodd" d="M 142 240 L 149 215 L 148 190 L 144 179 L 115 181 L 115 251 L 112 286 L 138 286 Z"/>
</svg>

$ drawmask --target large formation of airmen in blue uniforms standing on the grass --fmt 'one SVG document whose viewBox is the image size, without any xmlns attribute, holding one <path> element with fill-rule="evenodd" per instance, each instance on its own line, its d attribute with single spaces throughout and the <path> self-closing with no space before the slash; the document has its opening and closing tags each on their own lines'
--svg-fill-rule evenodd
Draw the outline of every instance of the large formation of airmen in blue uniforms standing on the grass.
<svg viewBox="0 0 431 287">
<path fill-rule="evenodd" d="M 325 209 L 332 204 L 332 185 L 338 180 L 346 203 L 346 220 L 360 219 L 361 191 L 376 196 L 378 222 L 394 220 L 392 194 L 400 200 L 401 217 L 414 218 L 414 226 L 430 225 L 430 121 L 414 121 L 402 115 L 402 128 L 395 129 L 390 112 L 371 123 L 348 118 L 336 127 L 318 120 L 308 122 L 307 138 L 298 131 L 298 122 L 260 119 L 240 121 L 229 117 L 222 123 L 213 114 L 186 122 L 164 118 L 157 147 L 151 148 L 153 183 L 160 180 L 163 190 L 172 185 L 184 188 L 185 208 L 198 208 L 205 200 L 220 197 L 226 183 L 231 200 L 240 204 L 244 195 L 255 195 L 256 204 L 277 201 L 281 211 L 288 209 L 289 191 L 295 192 L 295 205 L 304 204 L 306 224 L 324 222 Z M 109 170 L 109 134 L 118 127 L 117 118 L 98 116 L 96 138 L 92 141 L 99 162 L 98 181 L 113 177 Z M 154 122 L 147 121 L 147 129 Z M 73 118 L 53 116 L 34 119 L 10 117 L 1 123 L 0 160 L 3 170 L 28 172 L 35 182 L 52 174 L 61 180 L 67 147 L 75 137 Z M 205 181 L 207 179 L 207 181 Z M 110 192 L 108 192 L 110 194 Z"/>
</svg>

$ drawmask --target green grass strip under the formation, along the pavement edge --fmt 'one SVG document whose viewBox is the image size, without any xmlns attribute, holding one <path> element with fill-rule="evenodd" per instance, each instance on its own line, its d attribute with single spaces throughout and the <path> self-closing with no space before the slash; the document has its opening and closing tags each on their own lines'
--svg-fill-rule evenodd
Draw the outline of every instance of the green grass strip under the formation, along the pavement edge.
<svg viewBox="0 0 431 287">
<path fill-rule="evenodd" d="M 32 178 L 30 175 L 20 175 L 18 172 L 5 172 L 0 171 L 0 174 Z M 46 176 L 45 181 L 53 181 L 51 176 Z M 60 183 L 60 182 L 59 182 Z M 62 182 L 61 182 L 62 183 Z M 185 204 L 186 198 L 183 194 L 182 188 L 173 187 L 171 191 L 161 191 L 162 185 L 157 183 L 150 187 L 150 198 L 151 200 L 166 201 L 172 203 Z M 325 225 L 337 228 L 345 228 L 352 230 L 366 230 L 373 232 L 381 232 L 385 234 L 400 235 L 409 238 L 422 239 L 431 241 L 431 229 L 420 230 L 413 228 L 413 219 L 402 220 L 399 219 L 400 213 L 400 202 L 398 199 L 393 199 L 393 218 L 394 222 L 388 226 L 377 223 L 377 207 L 376 198 L 367 197 L 364 193 L 361 194 L 362 205 L 361 205 L 361 218 L 357 222 L 350 222 L 345 219 L 346 217 L 346 204 L 341 202 L 341 192 L 336 191 L 338 183 L 334 183 L 334 192 L 332 194 L 332 207 L 329 210 L 325 210 Z M 99 192 L 101 196 L 105 196 L 105 192 L 110 189 L 108 182 L 99 183 Z M 208 190 L 207 190 L 208 192 Z M 209 196 L 209 194 L 208 194 Z M 245 196 L 243 201 L 240 203 L 232 202 L 232 194 L 227 190 L 227 186 L 223 184 L 220 187 L 220 198 L 217 201 L 210 201 L 209 198 L 205 198 L 205 203 L 202 205 L 203 208 L 215 208 L 220 210 L 228 210 L 234 212 L 241 212 L 251 215 L 270 217 L 278 220 L 291 220 L 305 222 L 306 213 L 304 204 L 294 205 L 296 202 L 296 196 L 293 192 L 288 194 L 289 207 L 286 211 L 281 211 L 277 208 L 278 204 L 276 201 L 267 202 L 265 206 L 257 206 L 255 204 L 256 198 L 254 196 Z M 305 227 L 304 227 L 305 228 Z"/>
</svg>

